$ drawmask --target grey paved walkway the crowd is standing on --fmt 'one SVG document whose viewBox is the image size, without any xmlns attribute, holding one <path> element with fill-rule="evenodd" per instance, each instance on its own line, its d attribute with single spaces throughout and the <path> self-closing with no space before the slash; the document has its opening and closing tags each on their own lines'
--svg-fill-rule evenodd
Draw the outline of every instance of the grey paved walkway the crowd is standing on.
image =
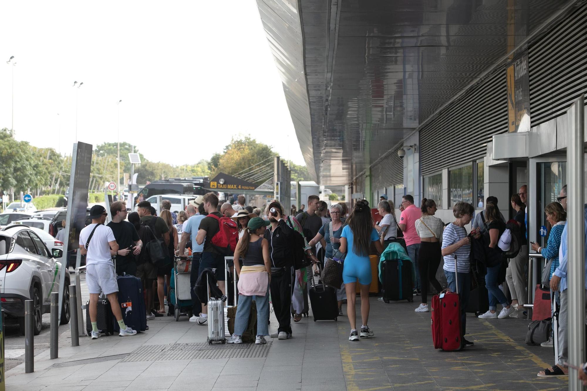
<svg viewBox="0 0 587 391">
<path fill-rule="evenodd" d="M 156 318 L 137 336 L 60 336 L 59 359 L 49 350 L 6 373 L 6 389 L 26 390 L 562 390 L 566 379 L 536 376 L 553 362 L 552 350 L 524 343 L 527 321 L 483 321 L 470 315 L 462 352 L 434 350 L 430 314 L 414 303 L 371 298 L 375 337 L 349 342 L 346 318 L 294 323 L 294 338 L 268 345 L 203 343 L 207 327 L 183 317 Z M 357 305 L 358 306 L 358 305 Z M 346 311 L 345 311 L 346 314 Z M 272 318 L 270 330 L 275 329 Z M 88 359 L 102 360 L 88 363 Z M 76 362 L 79 361 L 79 362 Z M 60 368 L 56 368 L 60 367 Z"/>
</svg>

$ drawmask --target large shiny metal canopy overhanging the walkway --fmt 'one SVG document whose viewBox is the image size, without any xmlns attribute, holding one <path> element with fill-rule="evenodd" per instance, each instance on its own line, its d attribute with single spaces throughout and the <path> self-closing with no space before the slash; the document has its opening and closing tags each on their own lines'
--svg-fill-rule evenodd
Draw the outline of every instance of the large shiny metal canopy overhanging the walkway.
<svg viewBox="0 0 587 391">
<path fill-rule="evenodd" d="M 309 171 L 336 185 L 352 181 L 566 2 L 257 4 Z"/>
</svg>

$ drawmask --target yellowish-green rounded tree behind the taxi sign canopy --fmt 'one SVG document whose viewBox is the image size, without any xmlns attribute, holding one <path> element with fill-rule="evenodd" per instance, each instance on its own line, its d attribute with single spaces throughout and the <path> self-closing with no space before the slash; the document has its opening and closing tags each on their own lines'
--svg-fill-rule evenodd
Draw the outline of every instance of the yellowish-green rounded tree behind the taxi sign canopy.
<svg viewBox="0 0 587 391">
<path fill-rule="evenodd" d="M 272 156 L 276 156 L 276 153 L 270 146 L 259 143 L 251 137 L 233 138 L 231 143 L 224 147 L 223 154 L 214 154 L 210 159 L 208 165 L 211 171 L 210 176 L 214 177 L 220 172 L 234 175 L 257 163 L 273 164 L 269 160 Z"/>
</svg>

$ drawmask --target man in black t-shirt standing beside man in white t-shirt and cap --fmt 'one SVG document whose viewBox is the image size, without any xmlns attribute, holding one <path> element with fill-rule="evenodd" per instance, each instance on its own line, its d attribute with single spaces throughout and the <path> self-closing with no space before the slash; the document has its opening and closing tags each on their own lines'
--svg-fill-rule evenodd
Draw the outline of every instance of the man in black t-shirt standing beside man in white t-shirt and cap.
<svg viewBox="0 0 587 391">
<path fill-rule="evenodd" d="M 114 238 L 119 245 L 116 251 L 116 274 L 136 275 L 137 264 L 134 255 L 140 254 L 143 242 L 137 234 L 133 224 L 124 221 L 126 218 L 126 203 L 115 201 L 110 205 L 112 221 L 107 224 L 114 233 Z"/>
</svg>

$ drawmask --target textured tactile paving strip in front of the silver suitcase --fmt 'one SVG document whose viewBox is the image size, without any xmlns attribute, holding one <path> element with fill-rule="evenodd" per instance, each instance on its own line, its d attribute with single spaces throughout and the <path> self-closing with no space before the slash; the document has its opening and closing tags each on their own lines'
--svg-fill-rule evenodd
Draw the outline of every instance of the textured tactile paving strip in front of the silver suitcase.
<svg viewBox="0 0 587 391">
<path fill-rule="evenodd" d="M 209 345 L 207 342 L 146 345 L 127 355 L 121 362 L 153 360 L 190 360 L 214 358 L 265 358 L 271 342 L 265 345 L 241 343 L 238 345 Z"/>
</svg>

